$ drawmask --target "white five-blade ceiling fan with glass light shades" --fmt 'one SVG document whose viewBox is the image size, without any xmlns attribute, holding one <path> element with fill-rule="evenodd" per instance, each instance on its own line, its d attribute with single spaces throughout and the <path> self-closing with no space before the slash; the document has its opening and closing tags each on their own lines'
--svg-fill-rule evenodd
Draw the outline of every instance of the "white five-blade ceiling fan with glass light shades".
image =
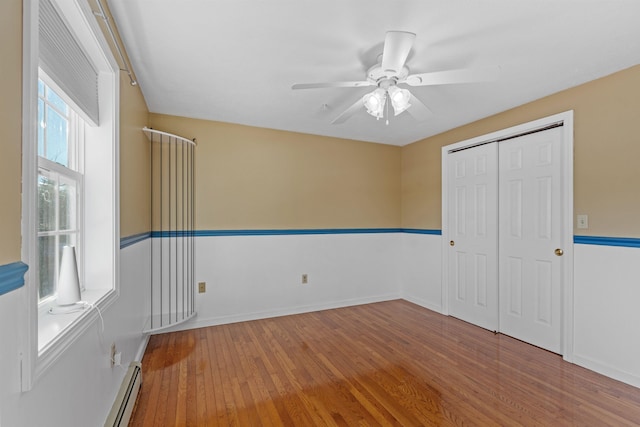
<svg viewBox="0 0 640 427">
<path fill-rule="evenodd" d="M 462 68 L 455 70 L 436 71 L 431 73 L 409 74 L 405 62 L 411 51 L 416 35 L 406 31 L 388 31 L 382 50 L 380 62 L 369 68 L 367 79 L 362 81 L 298 83 L 292 89 L 319 89 L 340 87 L 376 86 L 373 92 L 358 99 L 351 107 L 340 114 L 332 124 L 344 123 L 363 107 L 367 113 L 381 119 L 385 117 L 389 124 L 389 104 L 393 107 L 394 115 L 407 111 L 416 120 L 422 121 L 431 116 L 431 110 L 409 90 L 399 87 L 400 84 L 409 86 L 434 86 L 453 83 L 473 83 L 495 80 L 497 68 Z"/>
</svg>

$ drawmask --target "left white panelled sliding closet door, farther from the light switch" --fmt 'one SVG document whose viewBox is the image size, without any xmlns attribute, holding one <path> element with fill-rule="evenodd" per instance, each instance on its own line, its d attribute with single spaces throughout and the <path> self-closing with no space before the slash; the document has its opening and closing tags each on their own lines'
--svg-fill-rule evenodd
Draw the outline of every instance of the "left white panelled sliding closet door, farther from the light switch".
<svg viewBox="0 0 640 427">
<path fill-rule="evenodd" d="M 497 144 L 448 155 L 449 313 L 498 330 Z"/>
</svg>

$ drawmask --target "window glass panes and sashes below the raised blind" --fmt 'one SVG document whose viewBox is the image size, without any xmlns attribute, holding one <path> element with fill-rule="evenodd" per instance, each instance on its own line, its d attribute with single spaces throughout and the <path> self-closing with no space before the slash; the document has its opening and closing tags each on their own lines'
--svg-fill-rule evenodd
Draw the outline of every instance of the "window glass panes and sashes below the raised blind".
<svg viewBox="0 0 640 427">
<path fill-rule="evenodd" d="M 84 121 L 38 79 L 38 301 L 55 296 L 60 256 L 74 246 L 82 272 Z M 82 274 L 80 274 L 82 276 Z"/>
</svg>

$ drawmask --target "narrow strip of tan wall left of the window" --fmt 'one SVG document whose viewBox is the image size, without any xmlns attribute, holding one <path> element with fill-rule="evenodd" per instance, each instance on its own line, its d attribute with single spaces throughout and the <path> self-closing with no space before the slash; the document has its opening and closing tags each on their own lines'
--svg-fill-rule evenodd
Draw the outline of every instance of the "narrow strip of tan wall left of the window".
<svg viewBox="0 0 640 427">
<path fill-rule="evenodd" d="M 0 265 L 20 260 L 22 1 L 0 2 Z"/>
</svg>

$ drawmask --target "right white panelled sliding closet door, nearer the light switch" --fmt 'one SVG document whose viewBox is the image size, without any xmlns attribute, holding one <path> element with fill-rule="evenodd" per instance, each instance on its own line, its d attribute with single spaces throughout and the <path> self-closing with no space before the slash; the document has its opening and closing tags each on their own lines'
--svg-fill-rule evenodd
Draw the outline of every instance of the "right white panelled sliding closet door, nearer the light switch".
<svg viewBox="0 0 640 427">
<path fill-rule="evenodd" d="M 562 128 L 499 143 L 500 331 L 560 353 Z M 557 251 L 556 251 L 557 249 Z"/>
</svg>

